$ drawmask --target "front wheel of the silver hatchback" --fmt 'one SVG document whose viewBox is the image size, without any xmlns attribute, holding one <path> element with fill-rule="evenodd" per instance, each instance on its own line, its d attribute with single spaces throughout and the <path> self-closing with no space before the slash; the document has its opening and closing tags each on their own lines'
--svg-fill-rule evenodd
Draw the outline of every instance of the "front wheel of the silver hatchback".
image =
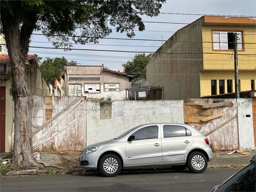
<svg viewBox="0 0 256 192">
<path fill-rule="evenodd" d="M 115 177 L 121 167 L 121 160 L 114 154 L 104 155 L 99 161 L 99 171 L 106 177 Z"/>
</svg>

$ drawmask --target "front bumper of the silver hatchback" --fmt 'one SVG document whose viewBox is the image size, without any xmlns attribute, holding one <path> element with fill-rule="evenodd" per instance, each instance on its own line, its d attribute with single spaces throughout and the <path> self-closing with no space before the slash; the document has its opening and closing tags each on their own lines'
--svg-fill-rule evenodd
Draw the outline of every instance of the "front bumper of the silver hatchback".
<svg viewBox="0 0 256 192">
<path fill-rule="evenodd" d="M 101 154 L 98 151 L 80 155 L 80 167 L 88 169 L 97 169 L 98 159 L 100 155 Z"/>
</svg>

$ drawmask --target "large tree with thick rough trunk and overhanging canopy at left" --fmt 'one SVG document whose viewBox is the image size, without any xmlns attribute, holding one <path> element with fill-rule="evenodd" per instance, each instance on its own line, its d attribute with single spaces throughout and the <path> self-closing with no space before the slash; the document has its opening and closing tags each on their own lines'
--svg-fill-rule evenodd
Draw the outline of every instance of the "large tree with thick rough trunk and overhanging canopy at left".
<svg viewBox="0 0 256 192">
<path fill-rule="evenodd" d="M 25 58 L 32 33 L 40 30 L 55 47 L 67 50 L 75 43 L 97 43 L 116 27 L 134 37 L 134 29 L 143 31 L 140 15 L 154 17 L 166 0 L 1 0 L 1 29 L 12 66 L 13 85 L 17 89 L 14 101 L 14 150 L 13 158 L 24 167 L 39 166 L 32 153 L 31 109 L 33 98 L 27 86 Z M 80 36 L 77 32 L 80 30 Z"/>
</svg>

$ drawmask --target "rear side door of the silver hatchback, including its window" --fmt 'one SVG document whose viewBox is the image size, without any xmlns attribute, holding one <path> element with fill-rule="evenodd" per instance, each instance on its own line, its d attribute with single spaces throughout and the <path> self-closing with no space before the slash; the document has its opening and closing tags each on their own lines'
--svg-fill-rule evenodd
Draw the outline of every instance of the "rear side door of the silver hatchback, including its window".
<svg viewBox="0 0 256 192">
<path fill-rule="evenodd" d="M 161 126 L 163 126 L 163 163 L 183 161 L 187 150 L 191 147 L 193 142 L 191 132 L 183 126 Z"/>
</svg>

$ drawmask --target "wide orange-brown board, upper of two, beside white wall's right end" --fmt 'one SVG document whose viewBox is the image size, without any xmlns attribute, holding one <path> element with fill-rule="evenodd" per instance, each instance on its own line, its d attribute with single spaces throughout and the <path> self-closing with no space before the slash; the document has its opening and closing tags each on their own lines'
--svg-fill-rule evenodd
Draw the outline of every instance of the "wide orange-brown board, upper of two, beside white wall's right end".
<svg viewBox="0 0 256 192">
<path fill-rule="evenodd" d="M 211 116 L 213 109 L 202 109 L 201 104 L 184 104 L 184 116 Z"/>
</svg>

